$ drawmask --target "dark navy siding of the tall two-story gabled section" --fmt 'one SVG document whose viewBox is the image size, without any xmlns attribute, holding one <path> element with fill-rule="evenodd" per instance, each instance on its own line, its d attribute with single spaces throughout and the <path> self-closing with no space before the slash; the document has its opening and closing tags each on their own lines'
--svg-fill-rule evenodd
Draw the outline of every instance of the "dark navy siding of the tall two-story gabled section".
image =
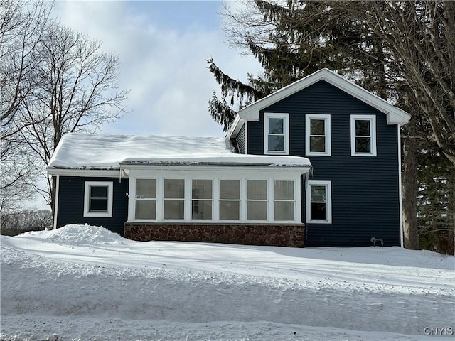
<svg viewBox="0 0 455 341">
<path fill-rule="evenodd" d="M 400 245 L 400 202 L 397 126 L 386 114 L 320 81 L 272 104 L 249 122 L 248 153 L 264 151 L 264 112 L 289 113 L 289 151 L 308 157 L 309 180 L 332 185 L 332 224 L 306 224 L 306 245 L 354 247 L 371 245 L 371 237 L 385 245 Z M 305 155 L 305 114 L 331 114 L 331 156 Z M 350 115 L 376 116 L 377 155 L 350 156 Z M 302 189 L 302 222 L 305 192 Z"/>
</svg>

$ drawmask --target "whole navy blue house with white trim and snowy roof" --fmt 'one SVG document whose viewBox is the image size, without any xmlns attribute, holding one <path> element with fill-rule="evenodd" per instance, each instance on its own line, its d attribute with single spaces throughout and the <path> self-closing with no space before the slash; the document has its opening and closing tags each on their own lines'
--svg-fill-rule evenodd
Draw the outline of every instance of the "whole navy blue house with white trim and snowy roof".
<svg viewBox="0 0 455 341">
<path fill-rule="evenodd" d="M 48 165 L 55 228 L 98 224 L 136 240 L 402 245 L 400 127 L 409 119 L 323 69 L 242 109 L 226 139 L 68 134 Z"/>
</svg>

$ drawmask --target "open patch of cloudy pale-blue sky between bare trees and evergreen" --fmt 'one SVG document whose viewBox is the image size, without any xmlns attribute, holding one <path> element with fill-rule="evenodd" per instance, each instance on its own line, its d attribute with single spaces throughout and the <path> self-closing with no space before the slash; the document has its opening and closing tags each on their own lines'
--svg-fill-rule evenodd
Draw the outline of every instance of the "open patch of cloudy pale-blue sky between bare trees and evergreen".
<svg viewBox="0 0 455 341">
<path fill-rule="evenodd" d="M 119 82 L 130 90 L 131 113 L 103 126 L 102 133 L 224 136 L 208 113 L 208 99 L 219 86 L 206 60 L 213 57 L 242 81 L 260 67 L 225 43 L 221 11 L 221 1 L 55 3 L 53 13 L 63 25 L 119 55 Z"/>
</svg>

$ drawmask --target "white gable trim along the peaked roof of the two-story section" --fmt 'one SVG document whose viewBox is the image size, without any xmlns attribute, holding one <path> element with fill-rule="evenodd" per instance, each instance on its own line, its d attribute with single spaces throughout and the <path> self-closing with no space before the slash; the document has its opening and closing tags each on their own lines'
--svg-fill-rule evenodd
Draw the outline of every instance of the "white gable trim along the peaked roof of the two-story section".
<svg viewBox="0 0 455 341">
<path fill-rule="evenodd" d="M 346 80 L 346 78 L 338 75 L 336 72 L 324 68 L 302 78 L 301 80 L 297 80 L 296 82 L 287 85 L 277 92 L 269 94 L 269 96 L 259 99 L 257 102 L 252 103 L 240 110 L 240 119 L 245 119 L 246 121 L 257 121 L 259 120 L 260 110 L 265 109 L 286 97 L 289 97 L 291 94 L 304 90 L 306 87 L 309 87 L 320 80 L 325 80 L 347 94 L 350 94 L 371 107 L 378 109 L 380 112 L 387 114 L 387 124 L 407 124 L 411 118 L 411 115 L 402 109 L 395 107 L 384 99 L 363 89 L 363 87 L 350 82 L 350 80 Z"/>
</svg>

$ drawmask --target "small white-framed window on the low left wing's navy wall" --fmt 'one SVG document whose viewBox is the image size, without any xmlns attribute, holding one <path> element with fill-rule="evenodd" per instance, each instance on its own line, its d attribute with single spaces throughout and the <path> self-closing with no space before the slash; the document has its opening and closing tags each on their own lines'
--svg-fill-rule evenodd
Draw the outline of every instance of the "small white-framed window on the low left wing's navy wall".
<svg viewBox="0 0 455 341">
<path fill-rule="evenodd" d="M 84 217 L 112 217 L 112 181 L 85 181 Z"/>
</svg>

